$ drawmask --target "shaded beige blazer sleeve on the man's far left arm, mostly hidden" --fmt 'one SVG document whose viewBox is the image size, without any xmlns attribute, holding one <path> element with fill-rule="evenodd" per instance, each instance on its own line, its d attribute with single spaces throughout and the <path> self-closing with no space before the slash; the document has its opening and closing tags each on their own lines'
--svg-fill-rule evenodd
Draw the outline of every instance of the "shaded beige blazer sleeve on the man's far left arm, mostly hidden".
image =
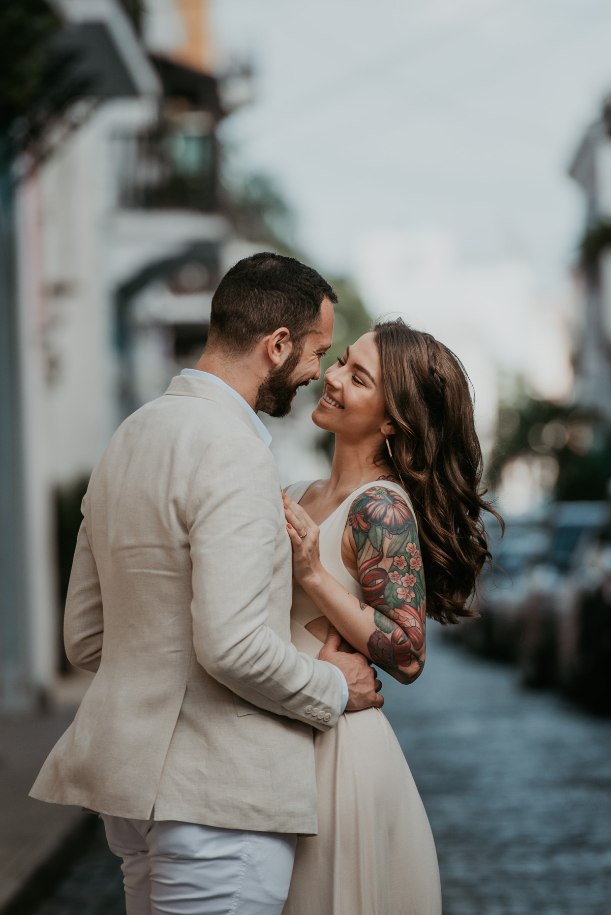
<svg viewBox="0 0 611 915">
<path fill-rule="evenodd" d="M 84 502 L 84 501 L 83 501 Z M 77 538 L 64 614 L 64 645 L 75 667 L 97 672 L 102 658 L 102 590 L 85 521 Z"/>
</svg>

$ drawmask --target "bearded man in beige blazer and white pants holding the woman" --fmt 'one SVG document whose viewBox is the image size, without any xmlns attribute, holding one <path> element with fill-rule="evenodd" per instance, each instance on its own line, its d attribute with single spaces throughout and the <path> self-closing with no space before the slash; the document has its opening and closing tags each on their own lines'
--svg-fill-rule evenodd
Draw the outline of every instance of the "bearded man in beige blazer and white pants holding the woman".
<svg viewBox="0 0 611 915">
<path fill-rule="evenodd" d="M 290 643 L 292 550 L 269 433 L 320 374 L 335 293 L 255 254 L 209 343 L 114 434 L 82 503 L 70 662 L 95 677 L 31 794 L 102 815 L 128 915 L 279 915 L 316 834 L 312 727 L 381 705 L 359 654 Z"/>
</svg>

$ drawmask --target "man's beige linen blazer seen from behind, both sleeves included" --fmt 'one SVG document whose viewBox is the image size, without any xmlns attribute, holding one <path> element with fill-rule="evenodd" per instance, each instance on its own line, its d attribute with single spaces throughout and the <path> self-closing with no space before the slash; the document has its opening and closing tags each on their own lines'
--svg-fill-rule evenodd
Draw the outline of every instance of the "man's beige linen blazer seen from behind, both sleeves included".
<svg viewBox="0 0 611 915">
<path fill-rule="evenodd" d="M 82 512 L 64 636 L 95 677 L 31 796 L 316 833 L 311 726 L 337 724 L 341 676 L 290 642 L 280 481 L 246 411 L 175 378 L 114 434 Z"/>
</svg>

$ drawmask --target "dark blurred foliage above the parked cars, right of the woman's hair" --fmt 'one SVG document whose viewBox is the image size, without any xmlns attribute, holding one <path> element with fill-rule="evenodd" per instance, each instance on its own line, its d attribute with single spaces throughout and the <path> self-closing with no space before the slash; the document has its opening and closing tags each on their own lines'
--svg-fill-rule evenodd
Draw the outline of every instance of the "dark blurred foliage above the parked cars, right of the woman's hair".
<svg viewBox="0 0 611 915">
<path fill-rule="evenodd" d="M 561 501 L 599 500 L 611 479 L 611 426 L 592 410 L 524 397 L 501 407 L 488 481 L 498 484 L 503 465 L 518 456 L 557 462 L 553 496 Z"/>
</svg>

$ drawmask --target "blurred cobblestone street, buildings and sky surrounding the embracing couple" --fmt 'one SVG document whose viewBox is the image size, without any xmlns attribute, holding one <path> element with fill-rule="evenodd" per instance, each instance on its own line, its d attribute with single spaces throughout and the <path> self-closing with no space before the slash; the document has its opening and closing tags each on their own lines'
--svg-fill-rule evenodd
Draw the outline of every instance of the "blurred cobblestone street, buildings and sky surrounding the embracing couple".
<svg viewBox="0 0 611 915">
<path fill-rule="evenodd" d="M 2 915 L 124 912 L 100 821 L 27 798 L 90 682 L 80 501 L 265 250 L 335 286 L 327 364 L 401 315 L 473 385 L 507 532 L 385 684 L 446 915 L 611 911 L 610 42 L 606 0 L 3 0 Z M 283 483 L 330 467 L 316 390 L 263 417 Z"/>
</svg>

